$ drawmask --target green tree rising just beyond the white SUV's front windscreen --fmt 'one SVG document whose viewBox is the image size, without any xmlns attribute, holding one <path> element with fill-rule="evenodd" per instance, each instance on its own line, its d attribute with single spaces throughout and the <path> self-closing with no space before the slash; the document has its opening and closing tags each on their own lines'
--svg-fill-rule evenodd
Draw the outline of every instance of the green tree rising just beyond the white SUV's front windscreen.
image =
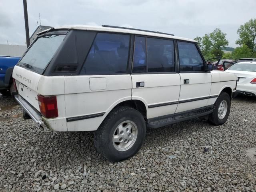
<svg viewBox="0 0 256 192">
<path fill-rule="evenodd" d="M 212 54 L 216 57 L 222 57 L 224 48 L 228 45 L 228 40 L 226 39 L 226 33 L 223 33 L 219 28 L 216 28 L 213 32 L 209 34 L 210 40 L 212 41 Z"/>
</svg>

